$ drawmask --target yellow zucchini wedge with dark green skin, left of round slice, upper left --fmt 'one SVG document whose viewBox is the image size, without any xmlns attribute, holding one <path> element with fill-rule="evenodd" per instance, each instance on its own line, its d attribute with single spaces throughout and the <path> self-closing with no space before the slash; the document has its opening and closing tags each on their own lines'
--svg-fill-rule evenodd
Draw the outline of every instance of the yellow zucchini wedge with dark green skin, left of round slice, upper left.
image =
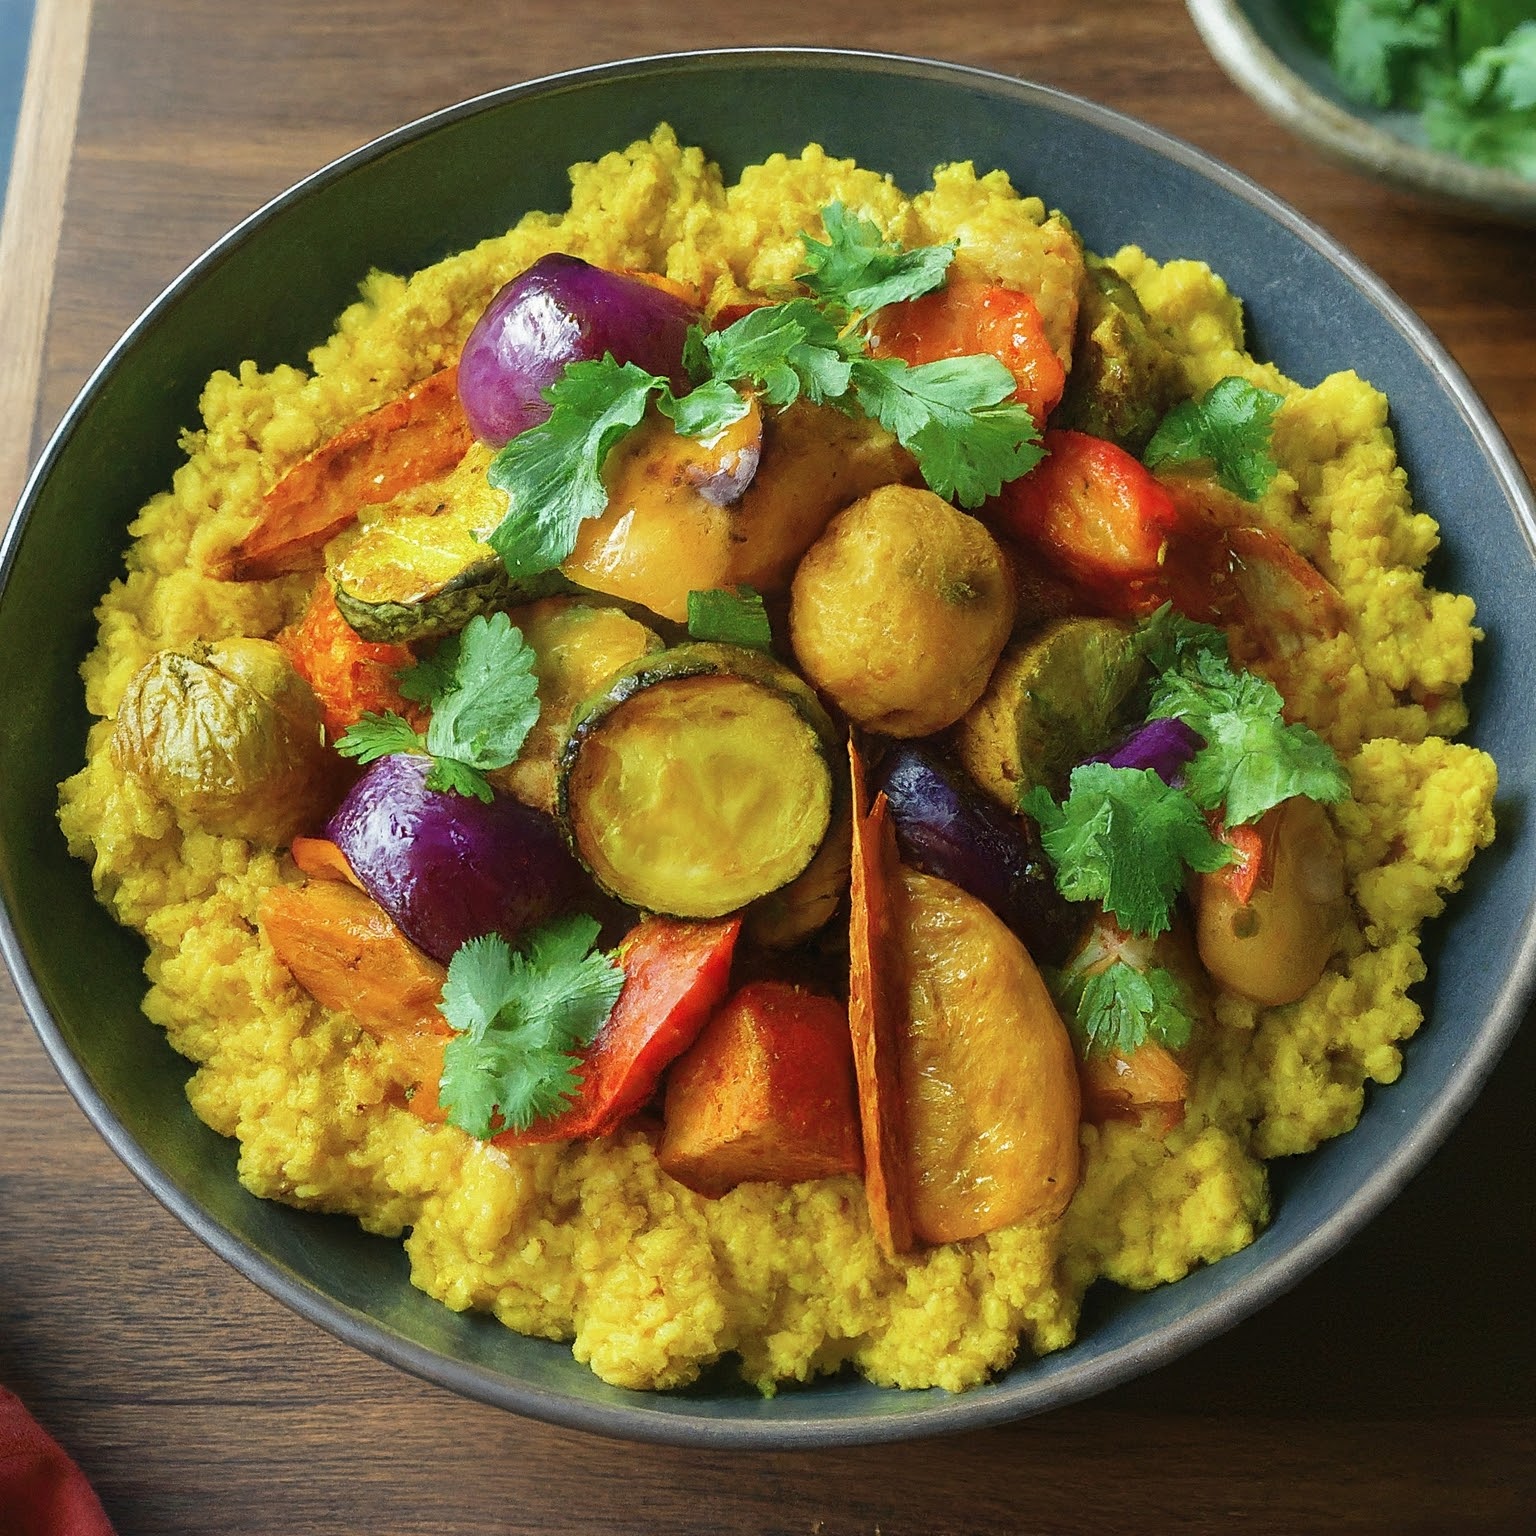
<svg viewBox="0 0 1536 1536">
<path fill-rule="evenodd" d="M 472 447 L 455 468 L 401 496 L 330 567 L 336 608 L 366 641 L 407 644 L 461 630 L 475 614 L 565 590 L 550 571 L 516 587 L 482 541 L 507 510 Z"/>
</svg>

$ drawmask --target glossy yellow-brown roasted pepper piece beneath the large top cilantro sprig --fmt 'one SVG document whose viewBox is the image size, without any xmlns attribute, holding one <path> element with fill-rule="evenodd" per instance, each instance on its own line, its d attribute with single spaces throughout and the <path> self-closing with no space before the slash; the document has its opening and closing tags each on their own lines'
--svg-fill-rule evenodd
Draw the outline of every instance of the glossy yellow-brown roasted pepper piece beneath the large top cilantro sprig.
<svg viewBox="0 0 1536 1536">
<path fill-rule="evenodd" d="M 731 433 L 708 449 L 719 473 L 740 452 Z M 561 568 L 579 587 L 682 624 L 690 591 L 783 591 L 834 511 L 911 468 L 874 422 L 802 402 L 762 422 L 757 473 L 722 507 L 700 488 L 710 476 L 697 444 L 651 416 L 608 455 L 607 511 L 582 522 Z"/>
</svg>

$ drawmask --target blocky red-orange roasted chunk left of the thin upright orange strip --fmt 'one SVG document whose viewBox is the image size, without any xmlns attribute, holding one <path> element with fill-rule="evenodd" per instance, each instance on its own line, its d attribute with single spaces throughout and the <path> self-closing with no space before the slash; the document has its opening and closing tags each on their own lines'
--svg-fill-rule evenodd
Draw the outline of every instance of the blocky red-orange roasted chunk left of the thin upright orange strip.
<svg viewBox="0 0 1536 1536">
<path fill-rule="evenodd" d="M 700 1195 L 857 1174 L 848 1012 L 788 982 L 730 997 L 667 1078 L 656 1161 Z"/>
</svg>

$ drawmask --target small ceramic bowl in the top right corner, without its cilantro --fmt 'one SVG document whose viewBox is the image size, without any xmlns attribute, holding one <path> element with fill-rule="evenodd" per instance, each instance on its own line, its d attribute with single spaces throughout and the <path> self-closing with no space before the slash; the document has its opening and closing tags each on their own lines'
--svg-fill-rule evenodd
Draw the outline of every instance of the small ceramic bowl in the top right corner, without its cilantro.
<svg viewBox="0 0 1536 1536">
<path fill-rule="evenodd" d="M 1536 181 L 1432 149 L 1416 112 L 1352 101 L 1287 0 L 1184 0 L 1212 57 L 1319 154 L 1430 203 L 1536 224 Z"/>
</svg>

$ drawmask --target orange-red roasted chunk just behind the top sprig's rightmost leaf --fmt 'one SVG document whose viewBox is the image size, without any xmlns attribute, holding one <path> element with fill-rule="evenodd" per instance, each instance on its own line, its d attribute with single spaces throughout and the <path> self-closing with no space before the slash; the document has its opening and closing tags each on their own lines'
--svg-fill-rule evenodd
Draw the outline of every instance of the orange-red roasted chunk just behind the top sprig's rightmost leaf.
<svg viewBox="0 0 1536 1536">
<path fill-rule="evenodd" d="M 1061 401 L 1066 370 L 1046 339 L 1046 327 L 1031 295 L 978 278 L 951 278 L 922 298 L 891 304 L 874 321 L 871 350 L 903 362 L 989 355 L 1018 389 L 1014 399 L 1029 407 L 1037 427 Z"/>
</svg>

